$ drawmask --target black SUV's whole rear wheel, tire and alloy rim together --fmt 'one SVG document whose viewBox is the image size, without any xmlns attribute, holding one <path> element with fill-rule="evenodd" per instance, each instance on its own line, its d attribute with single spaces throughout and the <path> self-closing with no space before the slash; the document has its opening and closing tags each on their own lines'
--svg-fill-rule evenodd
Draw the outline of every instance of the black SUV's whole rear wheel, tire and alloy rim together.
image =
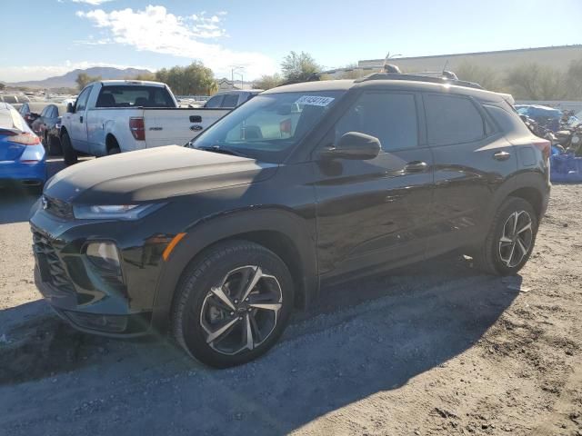
<svg viewBox="0 0 582 436">
<path fill-rule="evenodd" d="M 477 253 L 477 266 L 496 275 L 511 275 L 521 270 L 534 249 L 537 224 L 537 214 L 530 203 L 522 198 L 507 198 Z"/>
</svg>

